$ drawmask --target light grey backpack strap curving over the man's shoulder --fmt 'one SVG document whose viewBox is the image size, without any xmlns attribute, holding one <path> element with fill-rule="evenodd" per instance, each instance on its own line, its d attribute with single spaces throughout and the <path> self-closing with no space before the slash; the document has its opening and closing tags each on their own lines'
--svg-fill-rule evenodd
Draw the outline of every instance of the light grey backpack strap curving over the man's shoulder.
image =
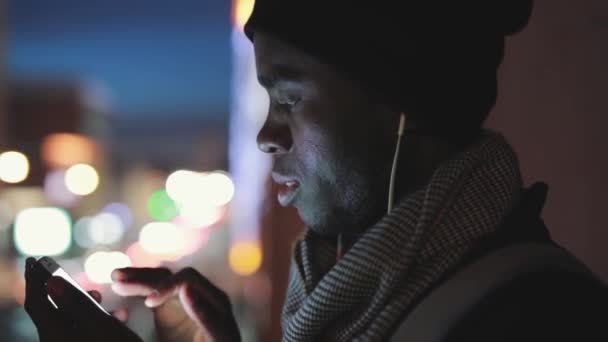
<svg viewBox="0 0 608 342">
<path fill-rule="evenodd" d="M 439 285 L 405 318 L 390 341 L 441 341 L 485 296 L 518 276 L 539 270 L 591 271 L 565 249 L 548 243 L 518 243 L 498 249 Z"/>
</svg>

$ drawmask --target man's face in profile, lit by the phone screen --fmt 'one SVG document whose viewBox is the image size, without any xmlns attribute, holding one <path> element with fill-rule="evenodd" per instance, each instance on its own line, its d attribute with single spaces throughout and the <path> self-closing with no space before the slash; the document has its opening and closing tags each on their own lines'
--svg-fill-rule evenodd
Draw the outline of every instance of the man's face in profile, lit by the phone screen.
<svg viewBox="0 0 608 342">
<path fill-rule="evenodd" d="M 259 148 L 273 155 L 279 202 L 327 236 L 356 234 L 386 208 L 398 115 L 313 56 L 255 34 L 270 97 Z"/>
</svg>

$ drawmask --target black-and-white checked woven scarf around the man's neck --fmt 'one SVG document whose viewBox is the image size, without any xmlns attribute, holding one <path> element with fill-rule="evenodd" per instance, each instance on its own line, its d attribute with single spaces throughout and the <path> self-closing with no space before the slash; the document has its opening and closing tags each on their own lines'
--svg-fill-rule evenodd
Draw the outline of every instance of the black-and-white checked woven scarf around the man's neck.
<svg viewBox="0 0 608 342">
<path fill-rule="evenodd" d="M 283 340 L 387 340 L 475 241 L 501 225 L 521 189 L 515 152 L 502 136 L 485 132 L 338 262 L 335 246 L 306 232 L 294 248 Z"/>
</svg>

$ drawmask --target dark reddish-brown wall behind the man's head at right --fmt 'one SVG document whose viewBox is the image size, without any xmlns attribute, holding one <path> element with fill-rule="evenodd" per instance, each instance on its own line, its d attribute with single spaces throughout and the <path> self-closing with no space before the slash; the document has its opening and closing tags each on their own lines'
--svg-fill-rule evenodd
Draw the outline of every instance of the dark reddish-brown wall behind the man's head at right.
<svg viewBox="0 0 608 342">
<path fill-rule="evenodd" d="M 608 280 L 608 2 L 538 0 L 511 37 L 488 126 L 510 139 L 528 184 L 549 184 L 554 239 Z"/>
</svg>

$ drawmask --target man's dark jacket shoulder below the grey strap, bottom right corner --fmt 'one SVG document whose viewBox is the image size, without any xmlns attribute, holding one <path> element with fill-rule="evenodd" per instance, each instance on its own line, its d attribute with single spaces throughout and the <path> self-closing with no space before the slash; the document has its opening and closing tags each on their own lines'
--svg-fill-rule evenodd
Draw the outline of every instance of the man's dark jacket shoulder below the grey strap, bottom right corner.
<svg viewBox="0 0 608 342">
<path fill-rule="evenodd" d="M 607 319 L 607 289 L 599 280 L 537 270 L 485 296 L 451 329 L 447 341 L 596 340 L 607 334 Z"/>
</svg>

